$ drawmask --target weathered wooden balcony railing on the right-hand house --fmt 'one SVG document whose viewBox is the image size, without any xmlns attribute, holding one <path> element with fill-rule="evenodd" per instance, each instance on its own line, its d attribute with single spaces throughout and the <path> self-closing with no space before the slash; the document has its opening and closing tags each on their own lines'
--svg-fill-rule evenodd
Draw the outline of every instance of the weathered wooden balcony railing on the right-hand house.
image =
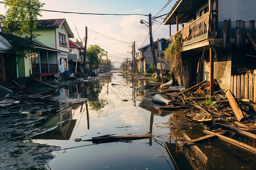
<svg viewBox="0 0 256 170">
<path fill-rule="evenodd" d="M 209 12 L 196 19 L 192 23 L 188 24 L 186 27 L 182 28 L 180 31 L 176 32 L 170 37 L 170 41 L 174 41 L 175 37 L 182 34 L 183 46 L 192 44 L 193 42 L 198 42 L 208 38 L 209 31 Z"/>
</svg>

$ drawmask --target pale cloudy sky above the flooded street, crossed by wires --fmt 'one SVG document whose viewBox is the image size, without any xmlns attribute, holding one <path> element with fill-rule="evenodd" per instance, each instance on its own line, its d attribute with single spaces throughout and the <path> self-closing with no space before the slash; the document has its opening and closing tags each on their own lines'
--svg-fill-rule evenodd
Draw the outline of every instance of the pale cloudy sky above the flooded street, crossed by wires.
<svg viewBox="0 0 256 170">
<path fill-rule="evenodd" d="M 168 0 L 40 0 L 40 2 L 45 3 L 43 9 L 46 10 L 97 14 L 152 14 L 152 17 L 167 14 L 176 1 L 172 0 L 166 8 L 156 15 Z M 1 3 L 0 14 L 5 14 L 5 7 Z M 129 52 L 131 52 L 132 42 L 135 41 L 137 52 L 138 48 L 150 43 L 147 25 L 139 22 L 141 19 L 148 22 L 148 16 L 81 15 L 46 11 L 42 11 L 41 14 L 43 16 L 38 19 L 65 18 L 75 36 L 75 39 L 72 39 L 73 41 L 79 39 L 79 36 L 84 39 L 86 26 L 88 28 L 88 46 L 97 44 L 105 51 L 108 51 L 109 59 L 112 62 L 117 62 L 114 64 L 115 67 L 118 67 L 126 57 L 131 58 Z M 154 41 L 162 37 L 168 39 L 169 26 L 161 24 L 163 18 L 156 20 L 158 22 L 153 21 L 152 26 Z M 175 25 L 173 26 L 175 27 Z M 172 31 L 174 30 L 175 28 L 172 28 Z"/>
</svg>

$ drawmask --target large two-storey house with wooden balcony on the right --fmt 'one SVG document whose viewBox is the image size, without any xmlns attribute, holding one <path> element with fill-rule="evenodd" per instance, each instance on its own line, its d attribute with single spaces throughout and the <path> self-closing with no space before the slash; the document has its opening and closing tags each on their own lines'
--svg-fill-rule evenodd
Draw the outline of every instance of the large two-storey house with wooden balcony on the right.
<svg viewBox="0 0 256 170">
<path fill-rule="evenodd" d="M 239 75 L 239 82 L 247 84 L 241 76 L 256 69 L 255 6 L 255 0 L 178 0 L 175 3 L 164 24 L 170 25 L 171 42 L 182 35 L 180 53 L 184 73 L 177 75 L 181 85 L 191 87 L 209 80 L 212 92 L 216 79 L 220 88 L 239 88 L 238 97 L 245 96 L 246 87 L 234 85 L 232 76 Z M 183 28 L 179 30 L 180 24 Z M 171 25 L 176 25 L 174 35 Z"/>
</svg>

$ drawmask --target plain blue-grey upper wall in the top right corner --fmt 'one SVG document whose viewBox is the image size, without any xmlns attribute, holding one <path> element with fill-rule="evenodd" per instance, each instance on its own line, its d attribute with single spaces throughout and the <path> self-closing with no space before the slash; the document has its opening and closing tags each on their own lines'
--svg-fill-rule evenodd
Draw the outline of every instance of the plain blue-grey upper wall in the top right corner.
<svg viewBox="0 0 256 170">
<path fill-rule="evenodd" d="M 256 20 L 255 0 L 222 0 L 218 1 L 218 21 L 224 19 Z"/>
</svg>

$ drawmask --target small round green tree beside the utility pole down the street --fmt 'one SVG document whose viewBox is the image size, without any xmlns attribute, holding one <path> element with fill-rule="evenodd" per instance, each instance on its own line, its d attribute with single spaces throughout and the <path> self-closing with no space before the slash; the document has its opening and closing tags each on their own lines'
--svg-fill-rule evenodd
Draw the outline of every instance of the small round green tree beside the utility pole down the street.
<svg viewBox="0 0 256 170">
<path fill-rule="evenodd" d="M 90 71 L 98 69 L 98 65 L 101 63 L 101 57 L 106 56 L 105 50 L 96 44 L 90 45 L 86 53 L 88 63 L 90 65 Z"/>
</svg>

